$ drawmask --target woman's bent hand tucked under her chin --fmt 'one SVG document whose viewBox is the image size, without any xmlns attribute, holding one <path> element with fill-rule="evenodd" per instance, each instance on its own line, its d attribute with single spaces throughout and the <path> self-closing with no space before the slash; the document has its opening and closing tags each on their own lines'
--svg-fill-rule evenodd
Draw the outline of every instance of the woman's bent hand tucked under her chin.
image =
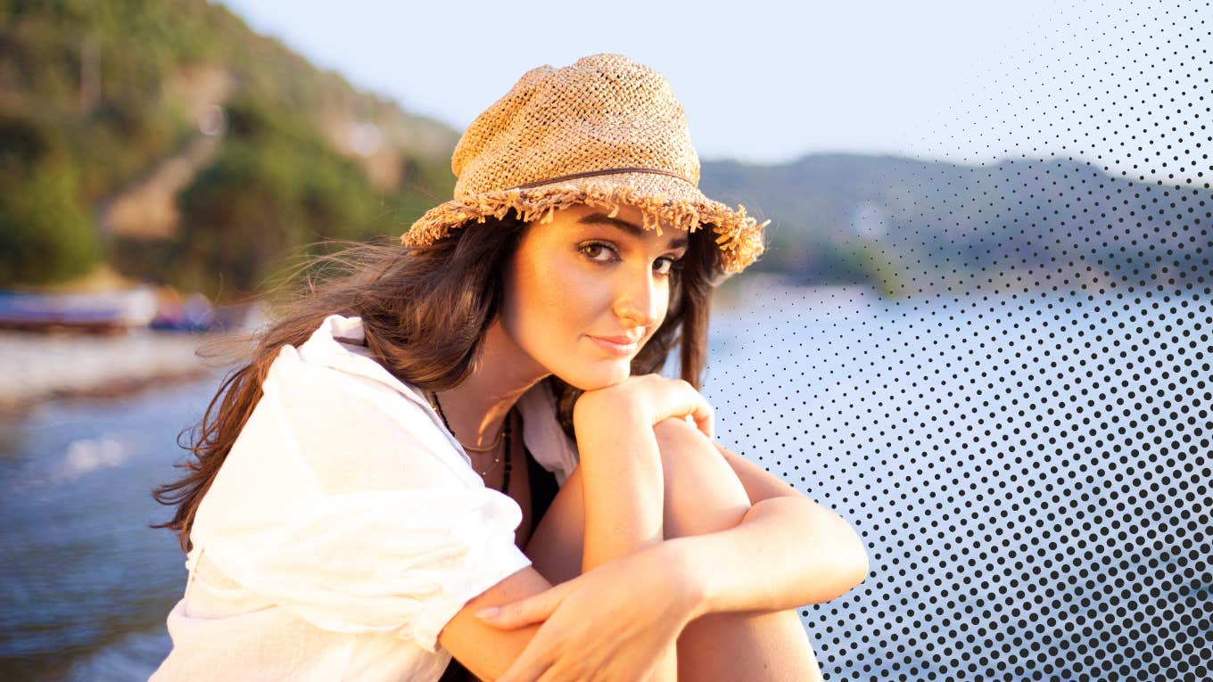
<svg viewBox="0 0 1213 682">
<path fill-rule="evenodd" d="M 620 383 L 586 391 L 573 408 L 574 422 L 581 419 L 600 420 L 611 410 L 637 410 L 649 426 L 668 417 L 695 420 L 695 426 L 708 438 L 716 437 L 712 405 L 688 381 L 666 379 L 660 374 L 628 376 Z"/>
</svg>

